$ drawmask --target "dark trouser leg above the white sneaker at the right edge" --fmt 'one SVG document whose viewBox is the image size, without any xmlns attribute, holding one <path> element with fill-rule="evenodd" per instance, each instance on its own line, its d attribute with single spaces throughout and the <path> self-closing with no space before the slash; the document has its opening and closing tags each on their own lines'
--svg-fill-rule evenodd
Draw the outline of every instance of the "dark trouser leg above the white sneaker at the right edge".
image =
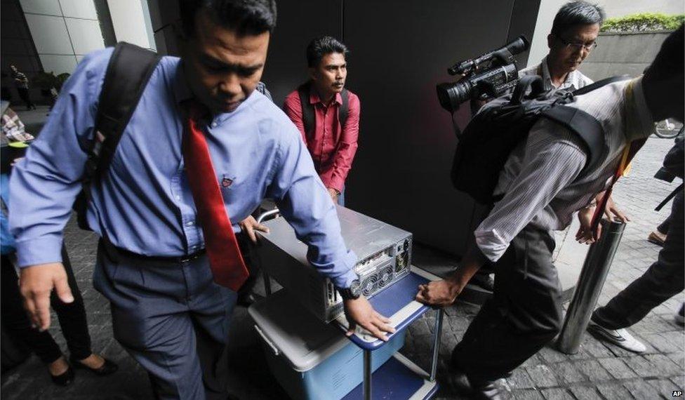
<svg viewBox="0 0 685 400">
<path fill-rule="evenodd" d="M 685 288 L 685 226 L 683 192 L 673 199 L 666 241 L 659 257 L 646 272 L 592 314 L 592 320 L 608 329 L 635 324 L 656 306 Z"/>
</svg>

